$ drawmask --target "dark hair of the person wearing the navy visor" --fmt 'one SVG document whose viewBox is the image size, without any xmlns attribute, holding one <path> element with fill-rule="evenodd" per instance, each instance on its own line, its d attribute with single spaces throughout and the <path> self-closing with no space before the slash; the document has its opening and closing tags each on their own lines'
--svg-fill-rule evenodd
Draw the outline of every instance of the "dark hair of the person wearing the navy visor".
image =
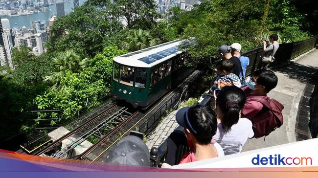
<svg viewBox="0 0 318 178">
<path fill-rule="evenodd" d="M 205 106 L 196 105 L 188 111 L 188 118 L 192 128 L 197 132 L 193 134 L 200 144 L 209 144 L 212 136 L 216 134 L 217 120 L 213 111 Z"/>
</svg>

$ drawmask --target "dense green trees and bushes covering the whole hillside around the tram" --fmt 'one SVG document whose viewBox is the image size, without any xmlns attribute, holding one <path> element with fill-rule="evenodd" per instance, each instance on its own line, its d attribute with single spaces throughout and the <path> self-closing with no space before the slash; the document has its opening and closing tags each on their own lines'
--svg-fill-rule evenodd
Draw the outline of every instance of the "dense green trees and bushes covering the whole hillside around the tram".
<svg viewBox="0 0 318 178">
<path fill-rule="evenodd" d="M 128 51 L 190 39 L 182 46 L 197 65 L 223 44 L 238 42 L 245 51 L 271 33 L 278 33 L 281 43 L 306 39 L 318 29 L 317 10 L 302 8 L 310 1 L 317 6 L 314 0 L 203 0 L 191 11 L 176 7 L 159 15 L 151 0 L 89 0 L 54 22 L 45 54 L 34 56 L 22 46 L 12 51 L 15 70 L 0 68 L 6 70 L 0 72 L 0 140 L 39 123 L 13 119 L 23 112 L 71 105 L 54 125 L 90 107 L 97 98 L 88 96 L 109 92 L 112 59 Z M 37 117 L 57 113 L 50 114 Z"/>
</svg>

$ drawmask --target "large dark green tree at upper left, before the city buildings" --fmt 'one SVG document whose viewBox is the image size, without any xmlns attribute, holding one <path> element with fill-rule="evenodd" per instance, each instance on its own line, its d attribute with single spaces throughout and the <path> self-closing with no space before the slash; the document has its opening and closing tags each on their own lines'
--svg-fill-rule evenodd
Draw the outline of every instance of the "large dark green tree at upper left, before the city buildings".
<svg viewBox="0 0 318 178">
<path fill-rule="evenodd" d="M 82 58 L 93 58 L 107 45 L 121 45 L 123 26 L 108 9 L 85 3 L 74 12 L 58 17 L 50 27 L 49 52 L 74 50 Z"/>
</svg>

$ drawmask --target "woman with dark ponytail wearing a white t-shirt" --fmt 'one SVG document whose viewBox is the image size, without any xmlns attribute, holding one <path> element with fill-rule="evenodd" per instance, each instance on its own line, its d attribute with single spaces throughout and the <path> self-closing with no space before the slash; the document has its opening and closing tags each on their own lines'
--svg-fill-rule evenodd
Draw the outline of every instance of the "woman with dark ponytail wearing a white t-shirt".
<svg viewBox="0 0 318 178">
<path fill-rule="evenodd" d="M 235 86 L 224 87 L 217 95 L 218 129 L 213 139 L 221 145 L 225 155 L 241 152 L 247 139 L 254 135 L 251 121 L 241 118 L 245 101 L 244 91 Z"/>
</svg>

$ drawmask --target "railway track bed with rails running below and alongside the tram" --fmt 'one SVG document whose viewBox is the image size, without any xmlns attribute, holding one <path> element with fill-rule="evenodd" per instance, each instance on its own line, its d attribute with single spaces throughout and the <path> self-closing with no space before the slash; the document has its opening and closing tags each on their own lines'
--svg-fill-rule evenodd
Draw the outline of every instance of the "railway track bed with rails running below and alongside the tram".
<svg viewBox="0 0 318 178">
<path fill-rule="evenodd" d="M 192 73 L 190 77 L 194 75 Z M 182 82 L 177 88 L 184 85 L 186 81 Z M 177 89 L 176 88 L 176 89 Z M 102 106 L 98 107 L 95 113 L 102 111 L 100 114 L 88 114 L 81 119 L 74 120 L 68 123 L 65 127 L 71 130 L 68 134 L 57 139 L 44 149 L 35 153 L 37 156 L 51 156 L 57 158 L 73 158 L 89 161 L 103 161 L 103 157 L 106 156 L 105 153 L 111 148 L 122 136 L 125 136 L 131 130 L 137 130 L 140 123 L 147 117 L 156 113 L 163 113 L 166 110 L 160 109 L 160 112 L 156 110 L 160 107 L 165 100 L 165 98 L 170 97 L 172 93 L 176 90 L 174 89 L 168 93 L 156 106 L 146 113 L 140 113 L 139 111 L 129 111 L 126 107 L 119 107 L 118 105 L 113 105 L 112 102 L 105 102 Z M 174 100 L 176 102 L 176 98 Z M 171 103 L 172 104 L 172 103 Z M 170 107 L 171 107 L 170 104 Z M 107 108 L 105 110 L 105 108 Z M 154 116 L 155 118 L 155 116 Z M 75 128 L 75 129 L 73 129 Z M 90 136 L 96 138 L 96 142 L 92 142 L 87 150 L 81 153 L 73 154 L 73 150 L 80 146 L 81 143 L 86 141 Z M 68 146 L 62 148 L 62 141 L 72 139 L 72 142 Z M 45 155 L 43 155 L 45 154 Z"/>
</svg>

